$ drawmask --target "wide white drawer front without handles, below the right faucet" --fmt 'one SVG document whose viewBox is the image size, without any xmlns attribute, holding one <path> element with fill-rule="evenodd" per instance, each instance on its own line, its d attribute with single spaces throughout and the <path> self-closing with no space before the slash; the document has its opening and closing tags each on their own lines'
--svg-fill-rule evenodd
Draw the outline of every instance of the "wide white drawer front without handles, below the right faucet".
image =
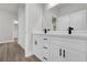
<svg viewBox="0 0 87 65">
<path fill-rule="evenodd" d="M 69 47 L 80 52 L 86 52 L 86 41 L 51 37 L 51 44 Z"/>
</svg>

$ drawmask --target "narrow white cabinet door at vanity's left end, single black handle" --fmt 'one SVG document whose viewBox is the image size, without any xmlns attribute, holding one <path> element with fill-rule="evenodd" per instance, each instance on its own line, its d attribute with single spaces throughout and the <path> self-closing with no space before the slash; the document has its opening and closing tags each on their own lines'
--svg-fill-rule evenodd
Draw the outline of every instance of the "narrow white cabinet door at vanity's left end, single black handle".
<svg viewBox="0 0 87 65">
<path fill-rule="evenodd" d="M 35 35 L 33 37 L 33 53 L 41 59 L 42 56 L 43 56 L 43 53 L 42 53 L 42 46 L 43 46 L 43 43 L 42 43 L 42 37 L 40 35 Z"/>
</svg>

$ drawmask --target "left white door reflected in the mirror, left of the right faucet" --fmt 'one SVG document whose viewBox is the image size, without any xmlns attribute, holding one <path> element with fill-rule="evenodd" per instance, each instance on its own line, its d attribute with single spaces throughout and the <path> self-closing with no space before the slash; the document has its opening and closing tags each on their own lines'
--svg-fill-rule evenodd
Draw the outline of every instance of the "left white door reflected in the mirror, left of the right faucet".
<svg viewBox="0 0 87 65">
<path fill-rule="evenodd" d="M 69 15 L 64 15 L 58 18 L 58 21 L 56 22 L 56 29 L 59 31 L 66 31 L 69 25 Z"/>
</svg>

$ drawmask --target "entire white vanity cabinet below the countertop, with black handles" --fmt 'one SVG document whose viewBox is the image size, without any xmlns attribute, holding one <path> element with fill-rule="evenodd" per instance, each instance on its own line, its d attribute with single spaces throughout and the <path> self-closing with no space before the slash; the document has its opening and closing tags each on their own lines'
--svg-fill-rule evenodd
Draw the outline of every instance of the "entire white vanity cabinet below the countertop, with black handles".
<svg viewBox="0 0 87 65">
<path fill-rule="evenodd" d="M 87 41 L 34 34 L 33 54 L 43 62 L 86 62 Z"/>
</svg>

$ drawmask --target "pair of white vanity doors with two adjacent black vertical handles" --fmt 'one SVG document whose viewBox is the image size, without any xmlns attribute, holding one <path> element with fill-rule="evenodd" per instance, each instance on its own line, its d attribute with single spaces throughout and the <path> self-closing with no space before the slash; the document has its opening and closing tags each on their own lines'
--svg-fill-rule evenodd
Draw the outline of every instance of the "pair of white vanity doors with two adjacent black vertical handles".
<svg viewBox="0 0 87 65">
<path fill-rule="evenodd" d="M 76 51 L 74 48 L 70 48 L 69 46 L 63 46 L 57 44 L 51 44 L 52 62 L 85 62 L 86 61 L 86 53 Z"/>
</svg>

